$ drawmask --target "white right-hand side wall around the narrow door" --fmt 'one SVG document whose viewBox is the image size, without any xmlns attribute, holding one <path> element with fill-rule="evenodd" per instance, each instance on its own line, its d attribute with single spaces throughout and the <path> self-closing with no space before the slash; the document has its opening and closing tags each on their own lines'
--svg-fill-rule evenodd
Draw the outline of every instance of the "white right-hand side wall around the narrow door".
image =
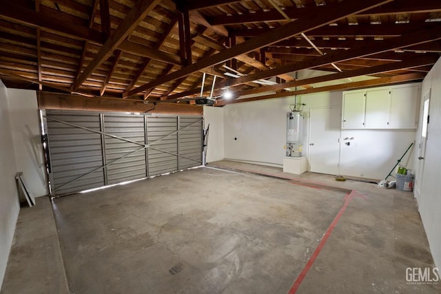
<svg viewBox="0 0 441 294">
<path fill-rule="evenodd" d="M 427 147 L 418 207 L 435 264 L 441 266 L 441 59 L 422 82 L 422 95 L 431 89 Z M 420 113 L 420 116 L 422 114 Z M 417 140 L 420 134 L 417 135 Z M 418 156 L 418 155 L 416 155 Z"/>
</svg>

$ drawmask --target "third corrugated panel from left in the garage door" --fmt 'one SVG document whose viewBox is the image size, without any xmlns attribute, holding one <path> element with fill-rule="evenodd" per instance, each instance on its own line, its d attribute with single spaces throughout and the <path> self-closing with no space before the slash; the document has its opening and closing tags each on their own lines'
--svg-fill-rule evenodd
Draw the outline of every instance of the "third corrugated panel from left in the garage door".
<svg viewBox="0 0 441 294">
<path fill-rule="evenodd" d="M 148 116 L 149 176 L 178 170 L 178 121 L 176 116 Z"/>
</svg>

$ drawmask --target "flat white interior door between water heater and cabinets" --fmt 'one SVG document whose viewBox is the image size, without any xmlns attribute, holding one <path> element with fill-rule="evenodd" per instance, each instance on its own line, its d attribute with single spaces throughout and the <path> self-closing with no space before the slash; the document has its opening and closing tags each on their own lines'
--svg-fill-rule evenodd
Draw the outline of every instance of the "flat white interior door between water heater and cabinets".
<svg viewBox="0 0 441 294">
<path fill-rule="evenodd" d="M 310 114 L 310 171 L 336 175 L 340 156 L 341 108 L 311 108 Z"/>
</svg>

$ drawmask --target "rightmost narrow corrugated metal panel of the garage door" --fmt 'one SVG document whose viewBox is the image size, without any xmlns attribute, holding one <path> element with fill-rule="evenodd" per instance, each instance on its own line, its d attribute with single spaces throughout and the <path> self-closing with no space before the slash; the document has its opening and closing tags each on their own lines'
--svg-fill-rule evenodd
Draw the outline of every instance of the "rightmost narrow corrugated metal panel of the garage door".
<svg viewBox="0 0 441 294">
<path fill-rule="evenodd" d="M 179 127 L 179 169 L 202 165 L 202 118 L 181 117 Z"/>
</svg>

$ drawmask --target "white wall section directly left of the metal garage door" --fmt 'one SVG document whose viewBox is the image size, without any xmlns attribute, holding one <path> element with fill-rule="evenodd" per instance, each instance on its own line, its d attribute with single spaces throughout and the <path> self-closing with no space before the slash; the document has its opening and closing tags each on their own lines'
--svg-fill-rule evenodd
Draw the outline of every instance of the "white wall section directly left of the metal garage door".
<svg viewBox="0 0 441 294">
<path fill-rule="evenodd" d="M 37 94 L 30 90 L 7 91 L 17 168 L 23 171 L 34 197 L 48 195 Z"/>
</svg>

